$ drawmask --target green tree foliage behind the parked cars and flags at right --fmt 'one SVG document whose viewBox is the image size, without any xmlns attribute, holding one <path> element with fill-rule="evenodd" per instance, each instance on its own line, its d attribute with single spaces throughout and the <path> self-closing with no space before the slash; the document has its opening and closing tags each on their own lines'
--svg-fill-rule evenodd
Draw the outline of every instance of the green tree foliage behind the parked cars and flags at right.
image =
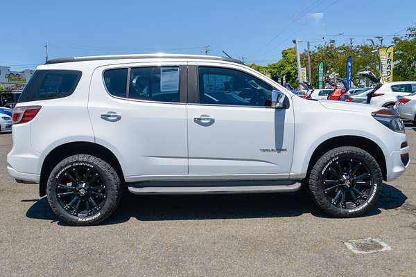
<svg viewBox="0 0 416 277">
<path fill-rule="evenodd" d="M 416 80 L 416 27 L 408 28 L 404 37 L 394 37 L 393 44 L 395 45 L 394 81 Z M 352 56 L 352 80 L 355 84 L 359 82 L 357 77 L 359 71 L 370 70 L 374 74 L 379 75 L 377 53 L 372 52 L 377 47 L 379 45 L 363 44 L 353 46 L 343 44 L 336 46 L 334 42 L 315 46 L 311 49 L 313 85 L 318 87 L 318 64 L 322 60 L 325 63 L 326 74 L 336 73 L 340 78 L 345 78 L 347 57 L 349 55 Z M 302 67 L 307 67 L 306 51 L 301 53 L 300 60 Z M 278 62 L 268 64 L 268 66 L 250 64 L 250 67 L 270 75 L 274 80 L 277 80 L 281 75 L 286 75 L 287 82 L 293 87 L 298 85 L 295 48 L 288 48 L 282 51 L 281 59 Z"/>
</svg>

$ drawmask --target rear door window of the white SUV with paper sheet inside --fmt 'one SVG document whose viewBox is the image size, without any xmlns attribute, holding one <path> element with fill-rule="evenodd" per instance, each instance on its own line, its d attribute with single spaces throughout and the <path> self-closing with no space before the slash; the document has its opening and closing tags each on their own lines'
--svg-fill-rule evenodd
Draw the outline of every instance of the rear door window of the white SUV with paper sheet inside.
<svg viewBox="0 0 416 277">
<path fill-rule="evenodd" d="M 160 102 L 180 102 L 179 66 L 131 69 L 128 97 Z"/>
</svg>

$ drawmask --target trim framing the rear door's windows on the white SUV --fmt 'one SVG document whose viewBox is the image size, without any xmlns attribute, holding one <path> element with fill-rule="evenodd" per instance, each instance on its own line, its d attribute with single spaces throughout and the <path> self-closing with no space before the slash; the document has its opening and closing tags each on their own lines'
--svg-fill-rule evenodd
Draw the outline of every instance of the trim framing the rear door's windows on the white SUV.
<svg viewBox="0 0 416 277">
<path fill-rule="evenodd" d="M 131 69 L 136 69 L 136 68 L 144 68 L 144 67 L 169 67 L 169 66 L 176 66 L 179 68 L 180 72 L 179 72 L 179 102 L 165 102 L 165 101 L 155 101 L 155 100 L 144 100 L 144 99 L 134 99 L 134 98 L 128 98 L 129 96 L 129 89 L 130 89 L 130 75 L 131 75 Z M 109 70 L 114 70 L 114 69 L 127 69 L 127 79 L 126 79 L 126 84 L 125 84 L 125 97 L 120 97 L 120 96 L 114 96 L 112 95 L 112 93 L 110 93 L 110 91 L 108 91 L 107 89 L 107 85 L 105 84 L 105 78 L 104 78 L 104 73 L 105 71 L 109 71 Z M 185 73 L 183 73 L 183 71 L 185 71 Z M 110 67 L 110 68 L 106 68 L 103 69 L 103 71 L 101 71 L 101 80 L 103 82 L 103 86 L 105 91 L 107 92 L 107 94 L 109 96 L 111 96 L 112 98 L 116 98 L 119 100 L 128 100 L 128 101 L 134 101 L 134 102 L 147 102 L 147 103 L 160 103 L 160 104 L 173 104 L 173 105 L 187 105 L 187 65 L 183 65 L 183 64 L 166 64 L 166 65 L 143 65 L 143 66 L 116 66 L 116 67 Z"/>
</svg>

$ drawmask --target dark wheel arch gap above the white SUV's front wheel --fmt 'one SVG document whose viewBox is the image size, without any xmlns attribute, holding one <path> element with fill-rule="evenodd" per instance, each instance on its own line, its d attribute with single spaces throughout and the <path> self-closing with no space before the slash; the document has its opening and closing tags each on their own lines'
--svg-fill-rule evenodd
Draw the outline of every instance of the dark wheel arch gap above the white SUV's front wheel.
<svg viewBox="0 0 416 277">
<path fill-rule="evenodd" d="M 381 173 L 383 175 L 383 180 L 387 179 L 387 165 L 383 154 L 383 150 L 381 150 L 380 146 L 377 143 L 363 136 L 336 136 L 320 143 L 320 145 L 318 145 L 318 147 L 315 148 L 315 150 L 313 151 L 311 159 L 309 159 L 306 177 L 309 176 L 313 168 L 313 165 L 316 161 L 318 161 L 318 159 L 320 159 L 320 157 L 322 157 L 324 153 L 334 148 L 342 146 L 354 146 L 356 148 L 361 148 L 362 150 L 365 150 L 366 152 L 371 154 L 380 166 Z"/>
</svg>

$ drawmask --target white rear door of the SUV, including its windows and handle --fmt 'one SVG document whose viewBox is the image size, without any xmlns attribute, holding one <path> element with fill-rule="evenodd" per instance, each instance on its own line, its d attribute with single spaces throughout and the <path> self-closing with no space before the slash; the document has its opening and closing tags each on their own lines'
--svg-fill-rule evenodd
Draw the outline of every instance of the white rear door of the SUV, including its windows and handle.
<svg viewBox="0 0 416 277">
<path fill-rule="evenodd" d="M 116 154 L 126 181 L 188 173 L 186 75 L 186 62 L 94 71 L 88 110 L 96 143 Z"/>
</svg>

